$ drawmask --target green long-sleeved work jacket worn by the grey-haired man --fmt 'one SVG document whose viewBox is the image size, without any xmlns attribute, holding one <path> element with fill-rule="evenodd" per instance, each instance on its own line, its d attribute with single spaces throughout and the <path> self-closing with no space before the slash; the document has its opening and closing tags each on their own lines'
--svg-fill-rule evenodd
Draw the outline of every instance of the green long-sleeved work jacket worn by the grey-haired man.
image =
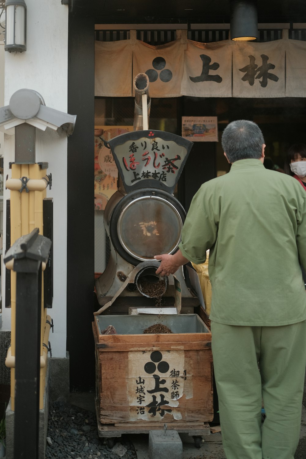
<svg viewBox="0 0 306 459">
<path fill-rule="evenodd" d="M 306 192 L 257 159 L 195 194 L 179 248 L 203 263 L 210 249 L 210 319 L 228 325 L 289 325 L 306 319 Z"/>
</svg>

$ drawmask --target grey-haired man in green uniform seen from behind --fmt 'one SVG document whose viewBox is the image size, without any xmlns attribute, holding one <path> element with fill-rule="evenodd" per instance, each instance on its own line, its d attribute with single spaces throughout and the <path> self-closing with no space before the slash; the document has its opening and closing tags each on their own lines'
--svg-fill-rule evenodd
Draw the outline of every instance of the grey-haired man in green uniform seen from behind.
<svg viewBox="0 0 306 459">
<path fill-rule="evenodd" d="M 264 168 L 255 123 L 228 124 L 222 146 L 230 172 L 200 187 L 178 252 L 156 256 L 156 273 L 203 263 L 210 249 L 212 354 L 226 457 L 294 459 L 306 367 L 306 193 L 289 175 Z"/>
</svg>

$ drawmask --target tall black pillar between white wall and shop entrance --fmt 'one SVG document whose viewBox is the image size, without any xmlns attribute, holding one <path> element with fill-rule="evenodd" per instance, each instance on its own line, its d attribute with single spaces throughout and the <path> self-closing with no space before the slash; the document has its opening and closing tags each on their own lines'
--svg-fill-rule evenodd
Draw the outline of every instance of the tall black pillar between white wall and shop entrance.
<svg viewBox="0 0 306 459">
<path fill-rule="evenodd" d="M 95 18 L 69 15 L 68 112 L 77 115 L 67 159 L 67 350 L 70 391 L 95 389 L 94 129 Z"/>
</svg>

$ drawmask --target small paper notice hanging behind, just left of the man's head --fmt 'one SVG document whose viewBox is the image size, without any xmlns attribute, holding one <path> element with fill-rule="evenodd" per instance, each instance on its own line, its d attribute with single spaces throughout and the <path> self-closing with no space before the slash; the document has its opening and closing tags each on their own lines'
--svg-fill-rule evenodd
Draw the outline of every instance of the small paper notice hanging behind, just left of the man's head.
<svg viewBox="0 0 306 459">
<path fill-rule="evenodd" d="M 216 116 L 182 117 L 182 137 L 192 142 L 217 142 L 218 122 Z"/>
</svg>

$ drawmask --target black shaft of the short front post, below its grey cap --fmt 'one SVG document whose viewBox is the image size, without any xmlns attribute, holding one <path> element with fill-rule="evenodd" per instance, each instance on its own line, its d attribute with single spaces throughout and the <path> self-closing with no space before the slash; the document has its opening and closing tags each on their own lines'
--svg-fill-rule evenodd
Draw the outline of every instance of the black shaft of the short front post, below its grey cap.
<svg viewBox="0 0 306 459">
<path fill-rule="evenodd" d="M 38 459 L 41 323 L 39 287 L 41 263 L 36 273 L 17 273 L 14 459 Z"/>
</svg>

